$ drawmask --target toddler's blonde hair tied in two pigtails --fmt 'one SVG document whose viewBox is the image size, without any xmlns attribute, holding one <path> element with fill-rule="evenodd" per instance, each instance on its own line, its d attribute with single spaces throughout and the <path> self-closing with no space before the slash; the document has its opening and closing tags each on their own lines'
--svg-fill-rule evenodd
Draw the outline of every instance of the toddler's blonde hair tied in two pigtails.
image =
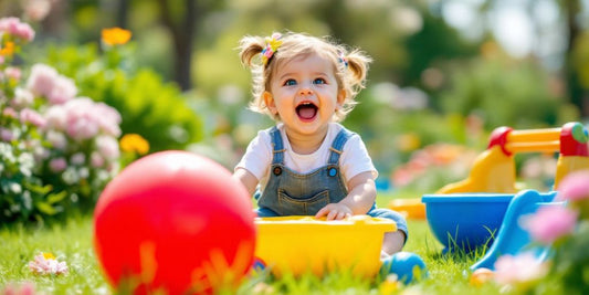
<svg viewBox="0 0 589 295">
<path fill-rule="evenodd" d="M 276 69 L 298 56 L 316 53 L 332 61 L 338 91 L 345 91 L 343 107 L 336 109 L 334 115 L 334 120 L 343 120 L 357 104 L 355 97 L 358 92 L 365 87 L 366 73 L 371 59 L 358 49 L 348 51 L 346 46 L 328 38 L 288 32 L 282 35 L 281 41 L 282 45 L 266 63 L 263 63 L 261 59 L 261 53 L 266 48 L 265 38 L 246 35 L 240 41 L 241 62 L 252 71 L 253 101 L 250 103 L 250 109 L 280 120 L 277 114 L 270 112 L 263 98 L 264 92 L 270 91 Z"/>
</svg>

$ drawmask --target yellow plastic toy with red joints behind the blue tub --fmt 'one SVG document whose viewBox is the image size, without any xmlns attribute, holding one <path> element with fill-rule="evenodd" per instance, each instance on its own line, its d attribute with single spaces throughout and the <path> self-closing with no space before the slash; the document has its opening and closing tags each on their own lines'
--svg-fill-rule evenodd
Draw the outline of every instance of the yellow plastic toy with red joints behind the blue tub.
<svg viewBox="0 0 589 295">
<path fill-rule="evenodd" d="M 513 130 L 499 127 L 493 130 L 487 149 L 475 159 L 469 177 L 446 185 L 435 193 L 495 192 L 514 193 L 514 154 L 559 151 L 555 173 L 555 190 L 566 175 L 589 168 L 587 155 L 588 135 L 580 123 L 567 123 L 561 128 Z M 388 206 L 398 212 L 406 212 L 409 219 L 424 219 L 425 204 L 420 199 L 393 200 Z"/>
</svg>

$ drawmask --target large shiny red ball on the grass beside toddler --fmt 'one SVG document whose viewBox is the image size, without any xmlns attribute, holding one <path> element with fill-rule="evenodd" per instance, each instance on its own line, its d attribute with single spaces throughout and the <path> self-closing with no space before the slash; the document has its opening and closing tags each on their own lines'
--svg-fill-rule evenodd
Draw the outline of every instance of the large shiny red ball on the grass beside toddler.
<svg viewBox="0 0 589 295">
<path fill-rule="evenodd" d="M 94 212 L 94 245 L 114 287 L 136 294 L 214 292 L 252 265 L 246 189 L 219 164 L 186 151 L 144 157 L 115 177 Z"/>
</svg>

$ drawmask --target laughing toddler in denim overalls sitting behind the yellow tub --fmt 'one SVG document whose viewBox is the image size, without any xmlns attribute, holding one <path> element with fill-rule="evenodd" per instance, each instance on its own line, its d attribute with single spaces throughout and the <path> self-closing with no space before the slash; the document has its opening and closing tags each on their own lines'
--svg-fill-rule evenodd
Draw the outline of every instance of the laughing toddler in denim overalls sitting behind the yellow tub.
<svg viewBox="0 0 589 295">
<path fill-rule="evenodd" d="M 255 193 L 257 215 L 388 218 L 398 231 L 385 234 L 382 255 L 401 251 L 407 222 L 376 208 L 378 172 L 360 136 L 338 123 L 364 88 L 370 57 L 292 32 L 244 36 L 240 49 L 253 75 L 250 108 L 277 122 L 259 131 L 233 173 Z"/>
</svg>

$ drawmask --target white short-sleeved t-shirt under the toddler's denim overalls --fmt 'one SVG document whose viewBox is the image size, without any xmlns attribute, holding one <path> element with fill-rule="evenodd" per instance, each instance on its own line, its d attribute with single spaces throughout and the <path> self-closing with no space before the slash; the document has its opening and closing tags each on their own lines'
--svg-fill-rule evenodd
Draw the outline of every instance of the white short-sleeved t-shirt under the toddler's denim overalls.
<svg viewBox="0 0 589 295">
<path fill-rule="evenodd" d="M 277 128 L 282 136 L 284 149 L 284 165 L 298 173 L 307 173 L 319 167 L 326 166 L 330 155 L 329 148 L 332 147 L 335 137 L 344 128 L 337 123 L 329 123 L 327 135 L 322 143 L 322 146 L 309 155 L 299 155 L 293 151 L 288 137 L 284 131 L 284 124 L 278 124 Z M 241 161 L 235 166 L 235 169 L 243 168 L 254 175 L 260 181 L 260 190 L 264 191 L 270 177 L 270 167 L 272 166 L 272 136 L 271 129 L 261 130 L 257 136 L 250 141 L 245 155 L 241 158 Z M 353 134 L 339 157 L 339 169 L 346 183 L 355 176 L 370 171 L 372 178 L 378 177 L 378 171 L 372 165 L 372 159 L 366 150 L 362 139 L 357 134 Z"/>
</svg>

